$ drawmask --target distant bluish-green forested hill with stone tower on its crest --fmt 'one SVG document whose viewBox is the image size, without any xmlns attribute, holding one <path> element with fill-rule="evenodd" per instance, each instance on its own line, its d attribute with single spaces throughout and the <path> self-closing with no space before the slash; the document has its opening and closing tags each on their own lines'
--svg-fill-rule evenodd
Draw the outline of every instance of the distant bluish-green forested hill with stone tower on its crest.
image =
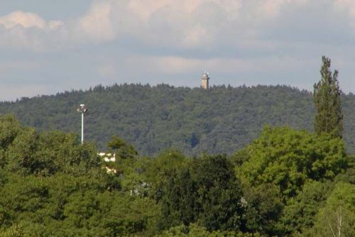
<svg viewBox="0 0 355 237">
<path fill-rule="evenodd" d="M 1 114 L 15 114 L 39 130 L 80 133 L 79 104 L 87 104 L 86 139 L 105 149 L 111 136 L 132 143 L 143 155 L 177 148 L 186 154 L 232 153 L 257 138 L 266 124 L 312 131 L 312 94 L 286 86 L 155 87 L 97 86 L 53 96 L 1 102 Z M 355 95 L 342 97 L 347 150 L 355 152 Z"/>
</svg>

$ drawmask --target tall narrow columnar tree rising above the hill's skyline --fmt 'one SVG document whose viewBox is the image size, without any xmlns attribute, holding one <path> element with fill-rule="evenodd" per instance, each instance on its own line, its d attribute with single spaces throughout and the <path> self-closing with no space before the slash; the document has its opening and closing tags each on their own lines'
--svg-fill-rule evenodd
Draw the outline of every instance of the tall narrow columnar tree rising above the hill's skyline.
<svg viewBox="0 0 355 237">
<path fill-rule="evenodd" d="M 315 132 L 330 133 L 334 137 L 342 138 L 343 114 L 340 102 L 338 70 L 330 70 L 330 59 L 322 57 L 320 74 L 322 79 L 314 85 L 313 97 L 317 114 L 315 115 Z"/>
</svg>

